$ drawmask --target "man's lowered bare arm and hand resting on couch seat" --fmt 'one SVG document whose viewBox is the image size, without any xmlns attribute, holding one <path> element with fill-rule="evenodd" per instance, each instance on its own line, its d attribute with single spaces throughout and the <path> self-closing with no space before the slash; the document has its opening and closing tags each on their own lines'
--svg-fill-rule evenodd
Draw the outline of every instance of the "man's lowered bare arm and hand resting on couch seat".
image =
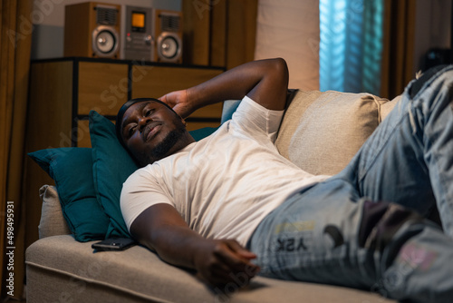
<svg viewBox="0 0 453 303">
<path fill-rule="evenodd" d="M 156 204 L 144 210 L 130 227 L 132 236 L 170 264 L 196 269 L 202 279 L 224 284 L 232 273 L 246 273 L 251 279 L 259 270 L 250 262 L 255 254 L 234 239 L 205 239 L 190 230 L 169 204 Z M 220 269 L 220 270 L 219 270 Z"/>
</svg>

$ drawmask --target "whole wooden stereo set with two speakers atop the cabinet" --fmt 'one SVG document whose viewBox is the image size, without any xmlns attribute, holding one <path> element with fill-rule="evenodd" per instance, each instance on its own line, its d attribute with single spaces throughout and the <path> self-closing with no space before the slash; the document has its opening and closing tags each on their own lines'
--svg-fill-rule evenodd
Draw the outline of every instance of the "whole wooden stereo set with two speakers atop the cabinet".
<svg viewBox="0 0 453 303">
<path fill-rule="evenodd" d="M 182 14 L 152 7 L 66 5 L 64 56 L 182 63 Z"/>
</svg>

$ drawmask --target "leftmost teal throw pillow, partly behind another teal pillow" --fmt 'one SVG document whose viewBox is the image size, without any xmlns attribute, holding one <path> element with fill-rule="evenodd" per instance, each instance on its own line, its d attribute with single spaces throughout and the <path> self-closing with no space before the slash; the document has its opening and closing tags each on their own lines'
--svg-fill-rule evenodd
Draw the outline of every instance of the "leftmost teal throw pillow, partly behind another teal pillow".
<svg viewBox="0 0 453 303">
<path fill-rule="evenodd" d="M 63 216 L 74 238 L 81 242 L 104 239 L 109 218 L 96 199 L 92 149 L 56 148 L 28 155 L 55 181 Z"/>
</svg>

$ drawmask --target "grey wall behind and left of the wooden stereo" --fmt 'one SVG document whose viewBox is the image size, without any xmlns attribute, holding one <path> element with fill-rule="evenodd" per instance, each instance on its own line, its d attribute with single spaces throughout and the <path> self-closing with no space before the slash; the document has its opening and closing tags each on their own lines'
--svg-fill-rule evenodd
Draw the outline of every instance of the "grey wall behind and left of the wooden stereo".
<svg viewBox="0 0 453 303">
<path fill-rule="evenodd" d="M 82 2 L 87 0 L 34 0 L 32 59 L 63 56 L 64 6 Z M 181 10 L 181 0 L 98 0 L 96 2 Z"/>
</svg>

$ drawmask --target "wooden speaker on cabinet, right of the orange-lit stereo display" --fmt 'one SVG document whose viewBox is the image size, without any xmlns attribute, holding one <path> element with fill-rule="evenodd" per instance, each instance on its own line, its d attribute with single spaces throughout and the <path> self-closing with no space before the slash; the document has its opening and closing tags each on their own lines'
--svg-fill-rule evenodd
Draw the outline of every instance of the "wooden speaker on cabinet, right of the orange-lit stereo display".
<svg viewBox="0 0 453 303">
<path fill-rule="evenodd" d="M 155 62 L 182 63 L 182 13 L 155 10 Z"/>
</svg>

